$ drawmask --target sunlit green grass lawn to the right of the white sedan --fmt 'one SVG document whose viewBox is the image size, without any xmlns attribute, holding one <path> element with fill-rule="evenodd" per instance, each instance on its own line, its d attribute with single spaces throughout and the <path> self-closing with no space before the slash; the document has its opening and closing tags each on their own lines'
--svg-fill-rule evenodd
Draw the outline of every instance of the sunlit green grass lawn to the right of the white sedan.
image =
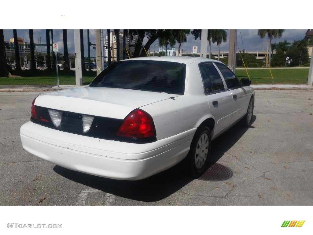
<svg viewBox="0 0 313 235">
<path fill-rule="evenodd" d="M 309 68 L 286 70 L 271 68 L 273 79 L 269 69 L 249 69 L 248 72 L 251 84 L 307 84 L 309 76 Z M 236 69 L 236 76 L 239 80 L 248 78 L 246 70 Z"/>
</svg>

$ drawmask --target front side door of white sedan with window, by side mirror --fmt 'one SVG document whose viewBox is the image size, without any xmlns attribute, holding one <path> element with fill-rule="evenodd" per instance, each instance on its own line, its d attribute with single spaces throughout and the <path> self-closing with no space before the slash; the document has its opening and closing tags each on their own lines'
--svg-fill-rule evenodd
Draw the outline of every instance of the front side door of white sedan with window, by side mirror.
<svg viewBox="0 0 313 235">
<path fill-rule="evenodd" d="M 227 86 L 227 90 L 233 99 L 233 116 L 230 123 L 236 122 L 247 112 L 248 93 L 241 86 L 239 79 L 235 74 L 224 64 L 214 63 L 220 70 Z"/>
</svg>

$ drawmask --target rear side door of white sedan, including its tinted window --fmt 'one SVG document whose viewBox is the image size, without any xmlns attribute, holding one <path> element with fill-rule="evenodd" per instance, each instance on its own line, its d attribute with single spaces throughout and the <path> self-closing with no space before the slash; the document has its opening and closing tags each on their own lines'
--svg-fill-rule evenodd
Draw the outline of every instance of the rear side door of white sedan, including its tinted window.
<svg viewBox="0 0 313 235">
<path fill-rule="evenodd" d="M 203 79 L 204 94 L 215 118 L 214 135 L 217 135 L 230 125 L 233 98 L 212 62 L 200 63 L 199 69 Z"/>
</svg>

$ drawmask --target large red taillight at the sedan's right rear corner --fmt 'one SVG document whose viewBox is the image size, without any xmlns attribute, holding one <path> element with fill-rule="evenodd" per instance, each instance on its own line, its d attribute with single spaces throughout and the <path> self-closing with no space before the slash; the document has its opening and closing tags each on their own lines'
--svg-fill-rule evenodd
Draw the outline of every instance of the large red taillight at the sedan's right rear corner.
<svg viewBox="0 0 313 235">
<path fill-rule="evenodd" d="M 124 119 L 116 136 L 147 138 L 156 136 L 151 116 L 141 109 L 135 109 Z"/>
</svg>

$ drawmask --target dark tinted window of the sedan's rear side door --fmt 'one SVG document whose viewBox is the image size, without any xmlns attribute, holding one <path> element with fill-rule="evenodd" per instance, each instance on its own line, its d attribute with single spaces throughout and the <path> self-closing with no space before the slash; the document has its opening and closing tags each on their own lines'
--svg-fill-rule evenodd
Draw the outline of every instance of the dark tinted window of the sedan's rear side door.
<svg viewBox="0 0 313 235">
<path fill-rule="evenodd" d="M 225 90 L 222 78 L 212 63 L 201 63 L 199 64 L 199 69 L 203 79 L 204 93 L 206 95 Z"/>
</svg>

